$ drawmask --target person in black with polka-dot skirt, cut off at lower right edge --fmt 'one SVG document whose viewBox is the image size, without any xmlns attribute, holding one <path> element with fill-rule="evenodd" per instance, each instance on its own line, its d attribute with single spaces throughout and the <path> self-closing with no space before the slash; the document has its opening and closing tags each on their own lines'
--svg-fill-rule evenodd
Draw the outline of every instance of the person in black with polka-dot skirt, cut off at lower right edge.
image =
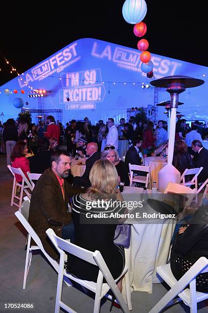
<svg viewBox="0 0 208 313">
<path fill-rule="evenodd" d="M 171 271 L 179 280 L 202 256 L 208 258 L 208 205 L 196 210 L 189 225 L 180 227 L 171 251 Z M 196 290 L 208 293 L 208 273 L 196 277 Z"/>
</svg>

